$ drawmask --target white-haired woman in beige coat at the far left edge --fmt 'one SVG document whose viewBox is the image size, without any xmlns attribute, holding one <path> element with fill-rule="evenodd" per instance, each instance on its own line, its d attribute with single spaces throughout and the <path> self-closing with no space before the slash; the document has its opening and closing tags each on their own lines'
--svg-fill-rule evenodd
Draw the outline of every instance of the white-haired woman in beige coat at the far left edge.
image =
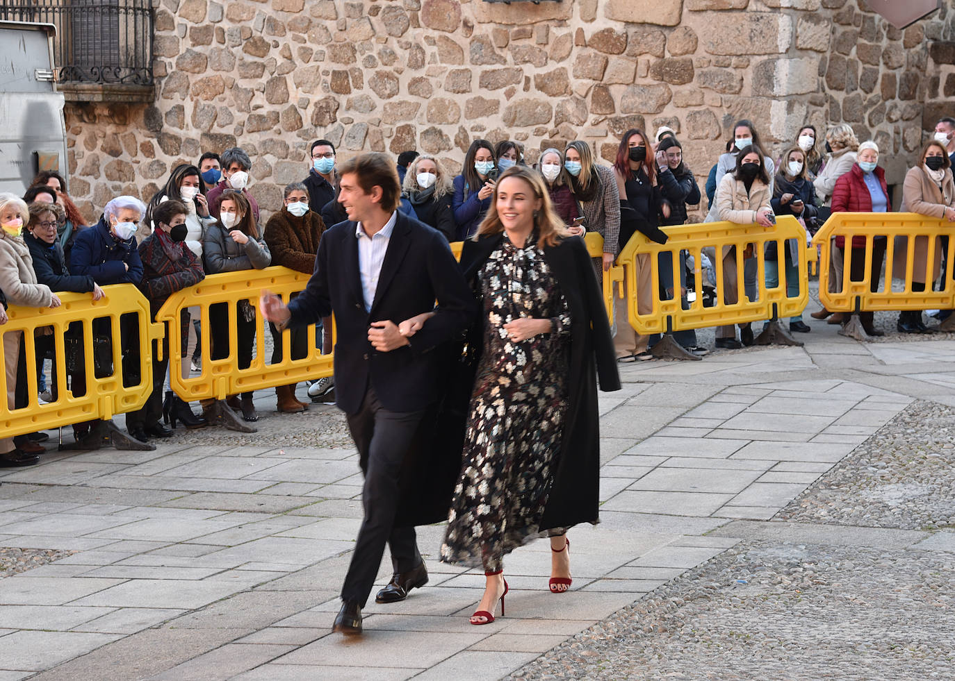
<svg viewBox="0 0 955 681">
<path fill-rule="evenodd" d="M 58 307 L 60 299 L 50 287 L 36 283 L 30 249 L 21 236 L 30 221 L 27 204 L 12 194 L 0 194 L 0 291 L 11 305 L 21 307 Z M 15 407 L 16 369 L 22 331 L 3 334 L 4 372 L 7 377 L 7 406 Z M 12 438 L 0 438 L 0 467 L 32 465 L 36 454 L 20 451 Z"/>
</svg>

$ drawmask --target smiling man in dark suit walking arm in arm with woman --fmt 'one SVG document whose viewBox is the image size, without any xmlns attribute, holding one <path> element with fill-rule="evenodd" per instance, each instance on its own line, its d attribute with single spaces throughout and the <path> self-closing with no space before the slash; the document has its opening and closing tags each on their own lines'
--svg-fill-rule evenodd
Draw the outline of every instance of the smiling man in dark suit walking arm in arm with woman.
<svg viewBox="0 0 955 681">
<path fill-rule="evenodd" d="M 419 426 L 441 398 L 445 369 L 438 348 L 460 336 L 476 303 L 444 237 L 397 212 L 400 185 L 387 155 L 356 156 L 339 175 L 339 200 L 349 221 L 322 235 L 305 291 L 287 306 L 266 292 L 261 307 L 280 328 L 335 314 L 337 403 L 348 416 L 365 472 L 365 517 L 332 627 L 350 634 L 361 632 L 361 609 L 386 542 L 394 576 L 376 601 L 403 600 L 428 581 L 411 526 L 422 523 L 396 527 L 395 518 L 418 517 L 399 507 L 420 503 L 405 501 L 410 495 L 402 493 L 402 480 L 414 465 L 409 462 L 421 458 L 414 452 Z M 399 332 L 402 321 L 433 310 L 414 339 Z M 419 476 L 417 485 L 424 479 Z"/>
</svg>

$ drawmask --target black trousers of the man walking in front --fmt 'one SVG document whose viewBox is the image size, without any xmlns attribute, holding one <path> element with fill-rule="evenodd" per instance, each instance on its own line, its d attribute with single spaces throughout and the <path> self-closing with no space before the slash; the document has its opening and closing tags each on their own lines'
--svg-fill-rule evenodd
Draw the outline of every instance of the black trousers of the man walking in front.
<svg viewBox="0 0 955 681">
<path fill-rule="evenodd" d="M 414 527 L 394 527 L 398 507 L 398 477 L 425 411 L 397 412 L 385 409 L 369 386 L 358 413 L 348 417 L 351 437 L 365 485 L 362 506 L 365 518 L 358 530 L 354 553 L 342 599 L 357 601 L 363 608 L 378 574 L 385 544 L 392 552 L 395 572 L 407 572 L 421 563 Z"/>
</svg>

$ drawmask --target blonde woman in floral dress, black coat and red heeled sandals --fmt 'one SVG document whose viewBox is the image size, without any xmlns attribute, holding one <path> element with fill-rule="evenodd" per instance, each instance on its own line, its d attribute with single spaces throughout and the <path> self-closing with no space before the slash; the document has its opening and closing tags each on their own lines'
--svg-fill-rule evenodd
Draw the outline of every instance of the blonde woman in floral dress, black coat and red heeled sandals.
<svg viewBox="0 0 955 681">
<path fill-rule="evenodd" d="M 536 537 L 551 537 L 551 591 L 570 586 L 566 528 L 598 520 L 596 377 L 604 390 L 620 379 L 584 241 L 569 236 L 537 171 L 500 176 L 461 266 L 481 317 L 463 353 L 473 390 L 441 560 L 484 568 L 471 617 L 483 625 L 507 590 L 504 555 Z"/>
</svg>

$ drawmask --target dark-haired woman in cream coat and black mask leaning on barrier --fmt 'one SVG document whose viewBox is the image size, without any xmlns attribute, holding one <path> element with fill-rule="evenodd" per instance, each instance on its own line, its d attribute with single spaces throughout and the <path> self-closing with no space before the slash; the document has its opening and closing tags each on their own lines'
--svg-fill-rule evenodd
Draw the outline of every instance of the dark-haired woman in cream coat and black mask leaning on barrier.
<svg viewBox="0 0 955 681">
<path fill-rule="evenodd" d="M 727 222 L 750 225 L 760 224 L 772 227 L 770 216 L 773 207 L 770 204 L 770 177 L 766 172 L 765 157 L 759 147 L 751 145 L 739 151 L 736 156 L 736 170 L 723 175 L 716 188 L 716 217 Z M 749 250 L 749 249 L 747 249 Z M 723 247 L 723 301 L 732 305 L 739 299 L 736 269 L 739 260 L 747 255 L 737 254 L 734 246 Z M 750 255 L 750 258 L 753 256 Z M 750 324 L 740 324 L 740 337 L 747 345 L 753 344 L 753 330 Z M 736 329 L 732 324 L 716 328 L 716 347 L 734 349 L 743 343 L 736 340 Z"/>
</svg>

